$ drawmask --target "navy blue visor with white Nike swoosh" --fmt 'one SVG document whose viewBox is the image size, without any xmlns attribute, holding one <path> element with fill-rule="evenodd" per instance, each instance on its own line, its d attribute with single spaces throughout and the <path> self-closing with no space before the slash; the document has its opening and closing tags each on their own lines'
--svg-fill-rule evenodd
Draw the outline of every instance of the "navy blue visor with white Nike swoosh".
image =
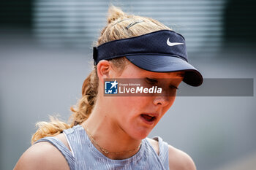
<svg viewBox="0 0 256 170">
<path fill-rule="evenodd" d="M 124 56 L 141 69 L 150 72 L 184 71 L 183 81 L 188 85 L 199 86 L 203 83 L 200 72 L 188 63 L 184 37 L 174 31 L 154 31 L 94 47 L 94 65 L 101 60 Z"/>
</svg>

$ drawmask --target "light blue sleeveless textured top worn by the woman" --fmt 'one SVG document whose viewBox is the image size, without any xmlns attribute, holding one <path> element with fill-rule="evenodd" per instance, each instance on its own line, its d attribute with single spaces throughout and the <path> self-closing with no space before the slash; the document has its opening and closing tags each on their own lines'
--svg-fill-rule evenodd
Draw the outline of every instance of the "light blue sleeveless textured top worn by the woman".
<svg viewBox="0 0 256 170">
<path fill-rule="evenodd" d="M 159 136 L 159 155 L 148 139 L 143 139 L 140 150 L 130 158 L 112 160 L 99 152 L 91 143 L 83 126 L 64 130 L 70 150 L 56 137 L 45 137 L 37 142 L 50 142 L 67 160 L 70 170 L 169 170 L 168 144 Z M 35 144 L 34 143 L 34 144 Z"/>
</svg>

